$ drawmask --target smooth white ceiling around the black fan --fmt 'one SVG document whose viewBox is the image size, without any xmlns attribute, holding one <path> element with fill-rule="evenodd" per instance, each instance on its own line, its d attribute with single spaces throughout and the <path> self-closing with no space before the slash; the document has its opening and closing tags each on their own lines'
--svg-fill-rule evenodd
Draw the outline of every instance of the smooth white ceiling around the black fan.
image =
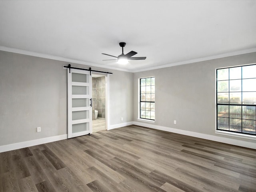
<svg viewBox="0 0 256 192">
<path fill-rule="evenodd" d="M 146 60 L 117 64 L 119 42 Z M 0 50 L 130 72 L 256 52 L 256 1 L 0 1 Z"/>
</svg>

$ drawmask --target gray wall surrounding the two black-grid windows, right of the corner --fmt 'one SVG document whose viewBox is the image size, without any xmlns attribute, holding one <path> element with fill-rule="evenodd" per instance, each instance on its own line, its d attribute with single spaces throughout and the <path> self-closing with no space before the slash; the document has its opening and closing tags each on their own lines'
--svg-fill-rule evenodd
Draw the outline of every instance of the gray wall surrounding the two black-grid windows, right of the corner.
<svg viewBox="0 0 256 192">
<path fill-rule="evenodd" d="M 216 136 L 215 68 L 252 63 L 256 53 L 134 73 L 134 121 L 138 121 L 138 78 L 155 76 L 155 125 Z"/>
</svg>

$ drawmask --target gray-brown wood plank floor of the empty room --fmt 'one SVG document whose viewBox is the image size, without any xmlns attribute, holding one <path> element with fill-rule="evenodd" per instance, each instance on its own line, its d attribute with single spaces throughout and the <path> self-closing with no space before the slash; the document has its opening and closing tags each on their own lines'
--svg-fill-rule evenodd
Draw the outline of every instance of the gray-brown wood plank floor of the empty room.
<svg viewBox="0 0 256 192">
<path fill-rule="evenodd" d="M 256 150 L 140 126 L 0 153 L 0 192 L 255 192 Z"/>
</svg>

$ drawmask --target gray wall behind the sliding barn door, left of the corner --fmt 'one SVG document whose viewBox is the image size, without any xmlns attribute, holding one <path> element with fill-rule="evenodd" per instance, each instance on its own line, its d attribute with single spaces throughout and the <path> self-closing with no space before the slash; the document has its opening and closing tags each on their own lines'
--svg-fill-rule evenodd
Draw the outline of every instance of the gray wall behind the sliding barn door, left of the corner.
<svg viewBox="0 0 256 192">
<path fill-rule="evenodd" d="M 68 63 L 0 51 L 0 146 L 67 133 L 67 72 L 63 65 Z M 120 114 L 123 122 L 132 121 L 133 74 L 92 69 L 113 72 L 109 124 L 120 123 Z M 37 133 L 38 126 L 42 130 Z"/>
</svg>

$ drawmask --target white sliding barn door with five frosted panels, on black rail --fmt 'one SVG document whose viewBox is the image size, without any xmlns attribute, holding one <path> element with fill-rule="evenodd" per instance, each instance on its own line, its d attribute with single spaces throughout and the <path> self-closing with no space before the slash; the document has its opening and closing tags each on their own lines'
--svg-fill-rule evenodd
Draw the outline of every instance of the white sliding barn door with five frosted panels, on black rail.
<svg viewBox="0 0 256 192">
<path fill-rule="evenodd" d="M 68 69 L 68 138 L 92 133 L 92 76 Z"/>
</svg>

